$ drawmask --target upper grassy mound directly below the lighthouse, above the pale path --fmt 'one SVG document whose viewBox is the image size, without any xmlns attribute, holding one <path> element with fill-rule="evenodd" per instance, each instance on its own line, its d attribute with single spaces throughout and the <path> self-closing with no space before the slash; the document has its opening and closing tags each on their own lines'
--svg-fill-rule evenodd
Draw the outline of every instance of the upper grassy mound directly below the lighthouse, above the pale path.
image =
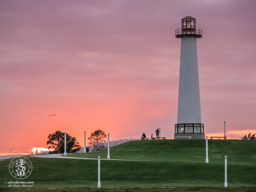
<svg viewBox="0 0 256 192">
<path fill-rule="evenodd" d="M 228 160 L 256 160 L 254 140 L 208 140 L 209 163 Z M 107 150 L 68 154 L 72 157 L 107 158 Z M 135 140 L 110 147 L 111 159 L 160 160 L 171 162 L 201 162 L 206 159 L 206 140 Z"/>
</svg>

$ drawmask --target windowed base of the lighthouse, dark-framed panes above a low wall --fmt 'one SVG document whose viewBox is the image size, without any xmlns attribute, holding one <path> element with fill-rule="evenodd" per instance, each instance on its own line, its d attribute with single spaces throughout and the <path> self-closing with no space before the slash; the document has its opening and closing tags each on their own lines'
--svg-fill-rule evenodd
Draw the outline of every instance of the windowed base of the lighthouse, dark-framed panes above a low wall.
<svg viewBox="0 0 256 192">
<path fill-rule="evenodd" d="M 189 136 L 191 139 L 204 139 L 204 124 L 175 124 L 174 139 L 187 139 Z"/>
</svg>

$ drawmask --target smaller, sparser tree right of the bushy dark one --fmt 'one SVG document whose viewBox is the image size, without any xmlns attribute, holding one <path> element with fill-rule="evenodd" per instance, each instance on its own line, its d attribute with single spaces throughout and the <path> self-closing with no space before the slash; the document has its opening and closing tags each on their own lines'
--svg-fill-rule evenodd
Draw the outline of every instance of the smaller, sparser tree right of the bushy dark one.
<svg viewBox="0 0 256 192">
<path fill-rule="evenodd" d="M 89 145 L 93 146 L 93 151 L 99 151 L 106 148 L 103 145 L 103 142 L 106 142 L 104 138 L 107 138 L 107 135 L 105 134 L 104 131 L 98 129 L 92 132 L 88 140 L 89 140 Z"/>
</svg>

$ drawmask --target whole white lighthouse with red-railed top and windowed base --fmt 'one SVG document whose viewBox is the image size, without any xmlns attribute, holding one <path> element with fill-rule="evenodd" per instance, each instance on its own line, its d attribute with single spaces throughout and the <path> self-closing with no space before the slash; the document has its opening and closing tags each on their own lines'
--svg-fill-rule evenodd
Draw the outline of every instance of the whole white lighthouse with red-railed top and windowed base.
<svg viewBox="0 0 256 192">
<path fill-rule="evenodd" d="M 191 16 L 181 20 L 176 29 L 176 38 L 181 38 L 178 116 L 174 139 L 204 139 L 204 124 L 201 119 L 198 57 L 196 39 L 202 37 L 202 29 L 196 28 L 196 19 Z"/>
</svg>

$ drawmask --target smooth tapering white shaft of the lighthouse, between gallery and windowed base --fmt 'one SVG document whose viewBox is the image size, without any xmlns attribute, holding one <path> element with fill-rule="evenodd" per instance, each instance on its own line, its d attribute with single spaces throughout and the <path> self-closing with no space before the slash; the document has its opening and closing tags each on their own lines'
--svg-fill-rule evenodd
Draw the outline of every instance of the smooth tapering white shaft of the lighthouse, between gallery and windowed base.
<svg viewBox="0 0 256 192">
<path fill-rule="evenodd" d="M 178 119 L 180 123 L 202 123 L 196 37 L 182 37 Z"/>
</svg>

